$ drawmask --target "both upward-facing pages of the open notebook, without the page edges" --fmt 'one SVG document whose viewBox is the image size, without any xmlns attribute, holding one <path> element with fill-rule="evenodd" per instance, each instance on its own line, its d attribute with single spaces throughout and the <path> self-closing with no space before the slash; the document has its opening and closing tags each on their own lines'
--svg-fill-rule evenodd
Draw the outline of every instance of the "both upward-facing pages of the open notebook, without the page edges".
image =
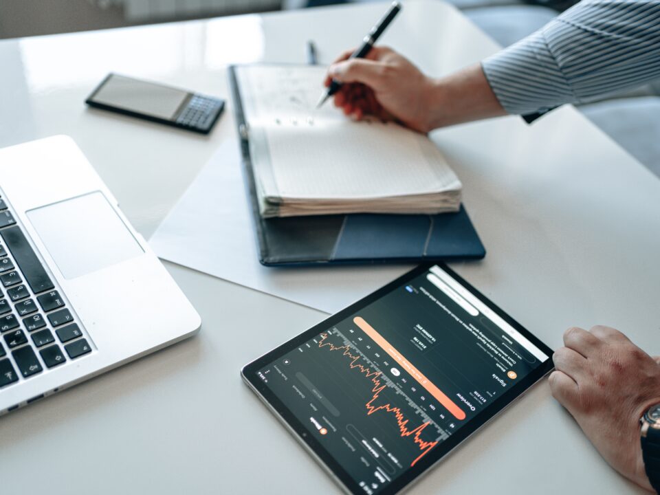
<svg viewBox="0 0 660 495">
<path fill-rule="evenodd" d="M 275 188 L 265 187 L 267 196 L 369 199 L 461 188 L 428 137 L 353 122 L 331 102 L 315 110 L 324 68 L 262 65 L 238 74 L 250 128 L 265 133 L 270 152 Z"/>
</svg>

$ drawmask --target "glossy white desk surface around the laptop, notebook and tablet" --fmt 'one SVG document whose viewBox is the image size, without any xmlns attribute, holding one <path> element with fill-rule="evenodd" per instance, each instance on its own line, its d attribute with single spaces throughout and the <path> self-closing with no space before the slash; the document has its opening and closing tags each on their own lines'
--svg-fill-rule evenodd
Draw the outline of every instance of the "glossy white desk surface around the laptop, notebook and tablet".
<svg viewBox="0 0 660 495">
<path fill-rule="evenodd" d="M 0 145 L 69 134 L 148 237 L 212 155 L 235 140 L 85 108 L 114 71 L 228 96 L 227 63 L 322 61 L 384 5 L 250 15 L 0 42 Z M 443 74 L 496 44 L 439 1 L 406 5 L 384 36 Z M 454 264 L 551 347 L 608 324 L 660 353 L 660 181 L 566 107 L 434 133 L 465 184 L 488 254 Z M 1 177 L 0 177 L 1 180 Z M 203 320 L 196 338 L 0 420 L 3 493 L 331 493 L 330 478 L 239 380 L 239 369 L 324 317 L 169 265 Z M 599 458 L 547 381 L 412 489 L 417 494 L 639 492 Z"/>
</svg>

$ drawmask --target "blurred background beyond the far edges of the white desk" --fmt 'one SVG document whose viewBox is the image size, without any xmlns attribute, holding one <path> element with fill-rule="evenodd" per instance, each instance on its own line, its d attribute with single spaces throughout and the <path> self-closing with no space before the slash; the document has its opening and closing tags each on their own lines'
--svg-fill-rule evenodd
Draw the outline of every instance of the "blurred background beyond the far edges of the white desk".
<svg viewBox="0 0 660 495">
<path fill-rule="evenodd" d="M 0 0 L 0 39 L 314 8 L 370 0 Z M 415 0 L 410 0 L 415 1 Z M 448 0 L 502 46 L 538 30 L 575 0 Z M 660 81 L 578 105 L 660 176 Z"/>
</svg>

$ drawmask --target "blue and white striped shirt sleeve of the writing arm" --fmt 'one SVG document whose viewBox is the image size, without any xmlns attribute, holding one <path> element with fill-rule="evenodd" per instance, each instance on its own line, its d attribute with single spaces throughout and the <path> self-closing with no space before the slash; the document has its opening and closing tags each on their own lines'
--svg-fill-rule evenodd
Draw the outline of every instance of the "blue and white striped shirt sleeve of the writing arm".
<svg viewBox="0 0 660 495">
<path fill-rule="evenodd" d="M 543 113 L 660 77 L 660 0 L 582 0 L 483 72 L 508 113 Z"/>
</svg>

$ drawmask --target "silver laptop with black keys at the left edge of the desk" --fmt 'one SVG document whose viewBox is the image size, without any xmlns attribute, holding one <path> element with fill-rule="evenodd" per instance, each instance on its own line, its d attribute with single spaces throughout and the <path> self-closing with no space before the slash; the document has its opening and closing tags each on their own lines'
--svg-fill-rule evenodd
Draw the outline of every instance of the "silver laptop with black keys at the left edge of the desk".
<svg viewBox="0 0 660 495">
<path fill-rule="evenodd" d="M 0 415 L 200 325 L 70 137 L 0 150 Z"/>
</svg>

